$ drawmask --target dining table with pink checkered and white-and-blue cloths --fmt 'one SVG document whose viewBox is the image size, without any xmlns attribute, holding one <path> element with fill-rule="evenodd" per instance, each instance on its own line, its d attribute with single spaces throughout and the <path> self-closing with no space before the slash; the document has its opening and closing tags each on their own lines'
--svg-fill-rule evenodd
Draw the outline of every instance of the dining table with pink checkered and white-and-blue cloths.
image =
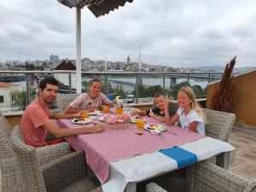
<svg viewBox="0 0 256 192">
<path fill-rule="evenodd" d="M 136 192 L 137 183 L 167 172 L 173 172 L 201 160 L 216 156 L 217 165 L 228 168 L 230 151 L 236 150 L 230 143 L 184 130 L 177 125 L 140 117 L 147 125 L 161 125 L 166 129 L 158 132 L 143 130 L 137 134 L 137 124 L 123 122 L 113 126 L 104 121 L 104 113 L 93 116 L 84 129 L 100 123 L 104 131 L 66 137 L 75 150 L 84 150 L 86 166 L 102 183 L 103 192 Z M 102 121 L 103 120 L 103 121 Z M 68 129 L 79 128 L 73 119 L 58 119 L 57 124 Z M 114 128 L 116 127 L 116 128 Z"/>
</svg>

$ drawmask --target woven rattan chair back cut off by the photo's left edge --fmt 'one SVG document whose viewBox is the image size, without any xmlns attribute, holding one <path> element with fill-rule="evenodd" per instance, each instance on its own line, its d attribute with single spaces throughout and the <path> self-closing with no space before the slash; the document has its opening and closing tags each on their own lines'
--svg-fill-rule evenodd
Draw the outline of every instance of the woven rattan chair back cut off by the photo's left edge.
<svg viewBox="0 0 256 192">
<path fill-rule="evenodd" d="M 0 113 L 1 192 L 26 191 L 20 165 L 10 142 L 11 126 Z"/>
</svg>

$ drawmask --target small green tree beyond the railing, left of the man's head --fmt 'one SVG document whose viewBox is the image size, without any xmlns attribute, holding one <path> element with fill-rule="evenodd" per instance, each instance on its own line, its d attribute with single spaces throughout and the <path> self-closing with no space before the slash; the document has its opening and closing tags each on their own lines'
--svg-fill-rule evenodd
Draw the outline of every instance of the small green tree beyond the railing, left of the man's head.
<svg viewBox="0 0 256 192">
<path fill-rule="evenodd" d="M 26 108 L 26 90 L 10 91 L 11 105 L 19 110 Z"/>
</svg>

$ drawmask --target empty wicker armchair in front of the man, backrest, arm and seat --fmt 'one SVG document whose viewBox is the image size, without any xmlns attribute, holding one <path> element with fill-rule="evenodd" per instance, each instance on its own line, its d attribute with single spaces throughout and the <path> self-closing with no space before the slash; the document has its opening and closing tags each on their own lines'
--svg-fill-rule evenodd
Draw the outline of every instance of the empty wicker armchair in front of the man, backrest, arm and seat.
<svg viewBox="0 0 256 192">
<path fill-rule="evenodd" d="M 16 158 L 13 170 L 20 170 L 21 174 L 16 177 L 23 180 L 22 187 L 17 191 L 102 191 L 96 177 L 85 177 L 83 152 L 77 151 L 67 154 L 59 159 L 50 161 L 44 166 L 40 166 L 36 148 L 23 143 L 19 134 L 19 129 L 14 129 L 11 132 L 11 141 L 9 141 L 13 146 Z M 16 185 L 16 183 L 12 184 Z M 3 190 L 3 192 L 5 191 L 11 192 L 15 190 L 11 188 Z"/>
</svg>

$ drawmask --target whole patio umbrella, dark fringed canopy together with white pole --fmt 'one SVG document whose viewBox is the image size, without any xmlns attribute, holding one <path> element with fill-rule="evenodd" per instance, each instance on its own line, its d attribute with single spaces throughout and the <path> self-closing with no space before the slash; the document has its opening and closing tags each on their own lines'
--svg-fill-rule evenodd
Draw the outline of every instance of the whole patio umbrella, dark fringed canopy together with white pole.
<svg viewBox="0 0 256 192">
<path fill-rule="evenodd" d="M 82 73 L 81 73 L 81 12 L 85 6 L 96 16 L 108 15 L 109 11 L 125 6 L 126 2 L 133 0 L 58 0 L 68 8 L 76 8 L 76 68 L 77 68 L 77 94 L 81 94 Z"/>
</svg>

